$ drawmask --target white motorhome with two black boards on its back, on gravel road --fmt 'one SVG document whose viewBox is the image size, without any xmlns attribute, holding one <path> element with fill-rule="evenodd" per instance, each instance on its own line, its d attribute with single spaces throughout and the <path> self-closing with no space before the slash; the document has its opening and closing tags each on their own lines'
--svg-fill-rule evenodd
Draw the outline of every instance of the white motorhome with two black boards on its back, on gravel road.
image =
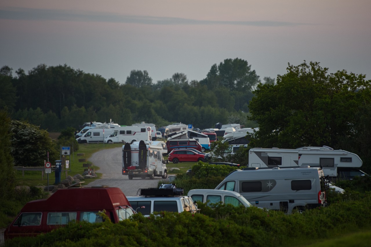
<svg viewBox="0 0 371 247">
<path fill-rule="evenodd" d="M 122 175 L 133 178 L 167 178 L 166 164 L 162 154 L 166 153 L 166 144 L 162 141 L 139 141 L 122 146 Z"/>
</svg>

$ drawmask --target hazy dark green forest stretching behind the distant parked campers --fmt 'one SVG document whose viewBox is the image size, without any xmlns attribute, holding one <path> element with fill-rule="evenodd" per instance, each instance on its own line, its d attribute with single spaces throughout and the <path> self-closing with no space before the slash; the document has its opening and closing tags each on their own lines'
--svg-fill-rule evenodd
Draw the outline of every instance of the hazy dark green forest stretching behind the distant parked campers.
<svg viewBox="0 0 371 247">
<path fill-rule="evenodd" d="M 79 129 L 84 122 L 137 122 L 165 126 L 174 122 L 204 129 L 218 122 L 247 121 L 249 101 L 261 82 L 247 61 L 225 59 L 211 66 L 205 79 L 188 81 L 183 73 L 152 82 L 146 70 L 132 70 L 124 84 L 68 65 L 45 64 L 25 73 L 9 66 L 0 69 L 0 108 L 12 119 L 39 125 L 49 132 L 67 127 Z M 264 78 L 273 84 L 275 79 Z"/>
</svg>

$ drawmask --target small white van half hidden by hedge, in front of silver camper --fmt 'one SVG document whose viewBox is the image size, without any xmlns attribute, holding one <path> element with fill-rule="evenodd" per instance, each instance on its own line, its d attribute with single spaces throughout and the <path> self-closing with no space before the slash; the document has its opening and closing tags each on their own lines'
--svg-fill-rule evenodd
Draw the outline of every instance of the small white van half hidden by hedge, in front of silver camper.
<svg viewBox="0 0 371 247">
<path fill-rule="evenodd" d="M 200 201 L 202 203 L 207 203 L 206 205 L 208 206 L 218 202 L 232 204 L 235 207 L 239 205 L 243 205 L 244 207 L 252 206 L 246 198 L 236 191 L 199 189 L 188 191 L 188 196 L 191 197 L 194 202 Z"/>
</svg>

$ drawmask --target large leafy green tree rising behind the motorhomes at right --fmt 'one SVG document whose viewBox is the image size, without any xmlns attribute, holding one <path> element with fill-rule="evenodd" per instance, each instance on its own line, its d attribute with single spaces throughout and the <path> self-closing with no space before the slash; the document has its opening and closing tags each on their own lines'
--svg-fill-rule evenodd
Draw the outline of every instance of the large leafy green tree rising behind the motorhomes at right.
<svg viewBox="0 0 371 247">
<path fill-rule="evenodd" d="M 260 128 L 251 143 L 267 148 L 327 145 L 345 149 L 344 140 L 348 140 L 352 142 L 348 151 L 364 152 L 355 142 L 365 135 L 371 138 L 363 127 L 370 118 L 361 118 L 370 110 L 371 81 L 345 70 L 327 72 L 318 62 L 304 61 L 298 66 L 289 64 L 275 85 L 259 84 L 249 105 L 249 119 Z"/>
</svg>

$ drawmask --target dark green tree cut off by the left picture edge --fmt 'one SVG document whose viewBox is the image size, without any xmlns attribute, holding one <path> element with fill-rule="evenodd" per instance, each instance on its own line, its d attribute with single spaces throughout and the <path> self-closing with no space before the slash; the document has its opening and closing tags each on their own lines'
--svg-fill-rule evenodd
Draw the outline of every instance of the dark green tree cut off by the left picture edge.
<svg viewBox="0 0 371 247">
<path fill-rule="evenodd" d="M 0 204 L 8 199 L 14 190 L 15 172 L 11 155 L 10 118 L 6 109 L 0 110 Z M 1 208 L 1 207 L 0 207 Z"/>
</svg>

